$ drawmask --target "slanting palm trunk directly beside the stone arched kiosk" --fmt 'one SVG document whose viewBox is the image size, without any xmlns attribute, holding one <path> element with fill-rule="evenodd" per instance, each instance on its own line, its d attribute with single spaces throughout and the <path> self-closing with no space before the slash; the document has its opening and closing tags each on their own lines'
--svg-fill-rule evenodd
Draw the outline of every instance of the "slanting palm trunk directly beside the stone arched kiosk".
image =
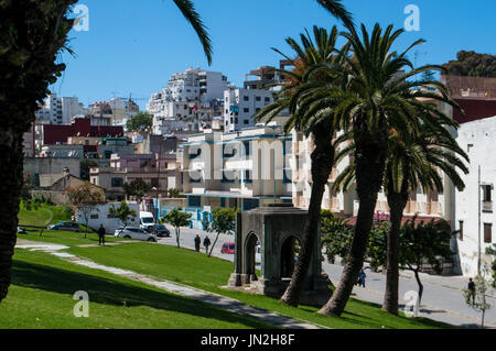
<svg viewBox="0 0 496 351">
<path fill-rule="evenodd" d="M 334 147 L 332 147 L 331 138 L 332 135 L 327 131 L 322 131 L 320 134 L 314 135 L 316 147 L 312 153 L 311 167 L 313 185 L 310 196 L 309 213 L 300 243 L 298 262 L 293 270 L 291 282 L 281 297 L 281 301 L 290 306 L 299 305 L 312 254 L 319 254 L 319 252 L 314 253 L 313 249 L 319 235 L 322 198 L 334 163 Z"/>
</svg>

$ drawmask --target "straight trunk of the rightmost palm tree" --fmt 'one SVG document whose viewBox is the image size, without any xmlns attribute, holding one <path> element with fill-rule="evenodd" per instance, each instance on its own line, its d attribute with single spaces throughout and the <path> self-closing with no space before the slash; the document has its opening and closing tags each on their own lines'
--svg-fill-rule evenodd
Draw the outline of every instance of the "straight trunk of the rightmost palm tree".
<svg viewBox="0 0 496 351">
<path fill-rule="evenodd" d="M 399 254 L 400 254 L 400 227 L 403 210 L 407 206 L 408 195 L 389 191 L 388 205 L 390 208 L 390 221 L 387 242 L 387 270 L 386 292 L 384 295 L 382 310 L 398 316 L 399 297 Z"/>
</svg>

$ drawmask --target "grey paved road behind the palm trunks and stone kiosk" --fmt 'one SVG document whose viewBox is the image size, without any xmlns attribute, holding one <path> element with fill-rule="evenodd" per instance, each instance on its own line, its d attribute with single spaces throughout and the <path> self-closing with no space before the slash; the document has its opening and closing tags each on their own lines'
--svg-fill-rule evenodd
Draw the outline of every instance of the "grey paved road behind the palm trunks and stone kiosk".
<svg viewBox="0 0 496 351">
<path fill-rule="evenodd" d="M 175 245 L 174 231 L 171 230 L 171 233 L 172 233 L 171 238 L 160 239 L 160 242 L 164 244 Z M 194 249 L 193 239 L 197 233 L 202 238 L 203 243 L 203 238 L 207 234 L 206 232 L 188 228 L 182 229 L 180 241 L 181 246 Z M 208 233 L 208 237 L 213 242 L 215 239 L 215 234 Z M 234 242 L 234 241 L 235 241 L 234 235 L 228 234 L 219 235 L 218 242 L 214 248 L 213 254 L 215 256 L 233 261 L 234 255 L 220 253 L 220 248 L 224 242 Z M 203 245 L 202 250 L 203 251 L 205 250 Z M 341 274 L 343 272 L 343 266 L 338 264 L 331 264 L 328 262 L 323 262 L 322 267 L 324 272 L 328 274 L 333 283 L 337 284 L 341 278 Z M 356 295 L 357 298 L 370 303 L 382 304 L 386 276 L 382 275 L 381 273 L 370 272 L 369 270 L 366 270 L 366 274 L 367 274 L 366 288 L 356 286 L 353 293 Z M 421 316 L 439 321 L 445 321 L 465 328 L 478 327 L 481 315 L 479 312 L 473 310 L 465 304 L 461 292 L 461 289 L 466 286 L 467 278 L 461 276 L 445 277 L 445 276 L 422 274 L 421 281 L 424 285 L 422 305 L 420 309 Z M 417 282 L 410 272 L 401 273 L 399 287 L 400 287 L 400 303 L 405 304 L 409 300 L 409 298 L 406 297 L 406 293 L 410 290 L 417 292 L 418 289 Z M 486 311 L 486 325 L 488 327 L 496 328 L 496 298 L 489 297 L 488 301 L 494 307 L 490 310 Z M 403 307 L 403 305 L 401 307 Z"/>
</svg>

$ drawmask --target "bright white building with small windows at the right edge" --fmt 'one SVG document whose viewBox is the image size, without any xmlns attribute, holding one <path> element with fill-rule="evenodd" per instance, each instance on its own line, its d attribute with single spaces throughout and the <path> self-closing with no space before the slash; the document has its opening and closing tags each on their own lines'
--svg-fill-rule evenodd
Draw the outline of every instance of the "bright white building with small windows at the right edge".
<svg viewBox="0 0 496 351">
<path fill-rule="evenodd" d="M 496 184 L 495 140 L 496 117 L 463 123 L 459 129 L 459 145 L 471 161 L 470 174 L 462 175 L 465 189 L 455 193 L 457 248 L 462 273 L 466 276 L 477 274 L 479 253 L 482 267 L 485 263 L 490 263 L 492 259 L 485 251 L 496 243 L 493 234 L 493 224 L 496 222 L 493 209 Z"/>
</svg>

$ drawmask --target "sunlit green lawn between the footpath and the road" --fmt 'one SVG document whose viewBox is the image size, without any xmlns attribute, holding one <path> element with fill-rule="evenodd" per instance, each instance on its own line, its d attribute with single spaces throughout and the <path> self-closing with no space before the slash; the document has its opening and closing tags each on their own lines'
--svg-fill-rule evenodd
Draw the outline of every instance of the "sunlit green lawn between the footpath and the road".
<svg viewBox="0 0 496 351">
<path fill-rule="evenodd" d="M 217 257 L 175 246 L 132 243 L 106 248 L 71 248 L 68 252 L 95 262 L 147 274 L 219 295 L 229 296 L 248 305 L 273 310 L 301 320 L 330 328 L 450 328 L 451 326 L 429 319 L 396 317 L 384 312 L 379 306 L 351 299 L 341 318 L 315 314 L 310 306 L 289 307 L 278 299 L 242 292 L 233 292 L 220 286 L 227 285 L 233 263 Z"/>
</svg>

